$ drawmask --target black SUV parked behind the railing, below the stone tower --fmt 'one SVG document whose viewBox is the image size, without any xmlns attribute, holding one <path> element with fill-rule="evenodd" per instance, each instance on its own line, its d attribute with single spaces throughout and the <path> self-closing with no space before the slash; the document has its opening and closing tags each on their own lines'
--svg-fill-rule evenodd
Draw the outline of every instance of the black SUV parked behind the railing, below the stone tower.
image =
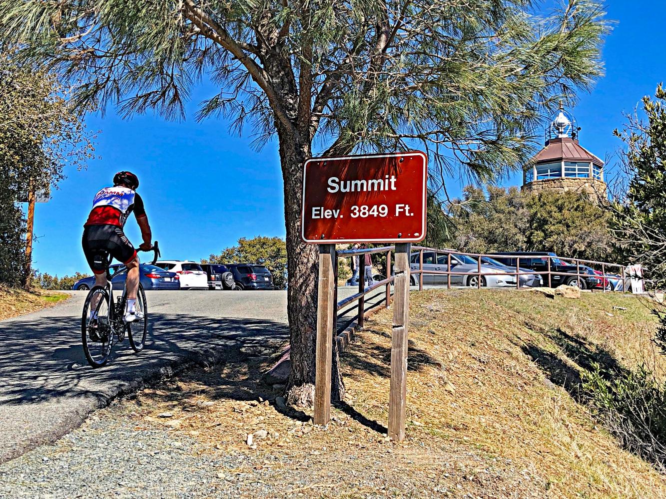
<svg viewBox="0 0 666 499">
<path fill-rule="evenodd" d="M 585 265 L 577 267 L 575 264 L 567 263 L 555 255 L 555 253 L 546 253 L 538 251 L 503 251 L 499 253 L 492 253 L 494 259 L 501 261 L 504 265 L 515 267 L 516 257 L 520 257 L 520 266 L 535 272 L 546 272 L 543 277 L 543 285 L 548 284 L 548 257 L 550 258 L 551 272 L 566 272 L 576 273 L 576 269 L 580 269 L 581 277 L 577 279 L 575 275 L 569 277 L 568 275 L 551 275 L 551 286 L 557 287 L 561 284 L 570 286 L 578 285 L 581 289 L 592 289 L 601 281 L 594 277 L 594 271 Z"/>
</svg>

